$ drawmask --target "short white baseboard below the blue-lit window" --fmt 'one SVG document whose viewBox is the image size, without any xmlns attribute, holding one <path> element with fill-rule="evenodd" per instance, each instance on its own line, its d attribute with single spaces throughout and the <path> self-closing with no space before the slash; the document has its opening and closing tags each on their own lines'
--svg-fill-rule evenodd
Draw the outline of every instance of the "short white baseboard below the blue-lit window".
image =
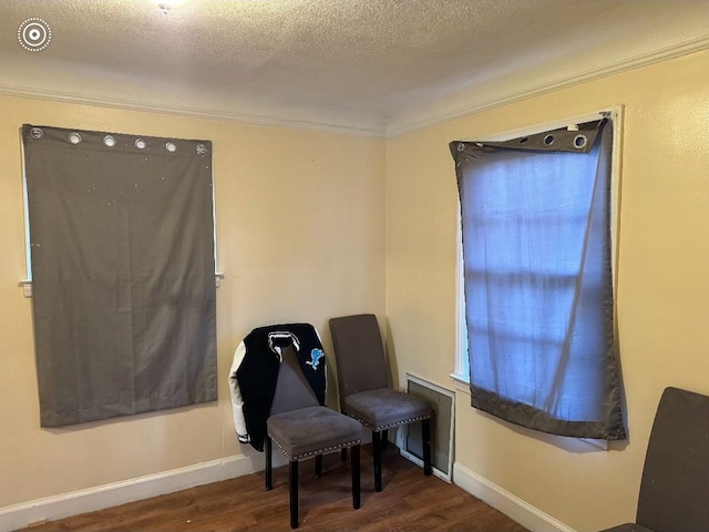
<svg viewBox="0 0 709 532">
<path fill-rule="evenodd" d="M 564 523 L 458 462 L 453 464 L 453 483 L 532 532 L 574 532 Z"/>
</svg>

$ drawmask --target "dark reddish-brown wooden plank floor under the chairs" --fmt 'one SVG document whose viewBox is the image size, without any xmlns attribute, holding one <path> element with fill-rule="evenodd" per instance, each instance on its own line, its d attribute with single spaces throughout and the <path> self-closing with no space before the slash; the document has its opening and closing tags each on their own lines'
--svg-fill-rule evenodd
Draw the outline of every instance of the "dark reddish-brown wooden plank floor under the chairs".
<svg viewBox="0 0 709 532">
<path fill-rule="evenodd" d="M 302 531 L 525 531 L 460 488 L 424 477 L 395 447 L 383 452 L 380 493 L 374 492 L 370 450 L 362 449 L 359 510 L 352 509 L 349 460 L 341 462 L 337 453 L 326 456 L 319 479 L 312 468 L 312 460 L 300 463 Z M 277 531 L 290 530 L 288 519 L 288 468 L 284 467 L 275 470 L 274 489 L 268 492 L 260 472 L 27 530 Z"/>
</svg>

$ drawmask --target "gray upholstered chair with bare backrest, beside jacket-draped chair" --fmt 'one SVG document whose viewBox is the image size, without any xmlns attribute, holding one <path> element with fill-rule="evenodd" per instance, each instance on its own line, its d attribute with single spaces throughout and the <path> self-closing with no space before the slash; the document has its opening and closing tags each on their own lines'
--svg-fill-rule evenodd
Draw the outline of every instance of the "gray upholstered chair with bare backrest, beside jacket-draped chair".
<svg viewBox="0 0 709 532">
<path fill-rule="evenodd" d="M 372 431 L 374 491 L 381 491 L 381 451 L 388 429 L 421 421 L 423 472 L 431 474 L 431 407 L 389 386 L 377 317 L 360 314 L 330 319 L 340 410 Z M 345 453 L 343 453 L 345 457 Z"/>
</svg>

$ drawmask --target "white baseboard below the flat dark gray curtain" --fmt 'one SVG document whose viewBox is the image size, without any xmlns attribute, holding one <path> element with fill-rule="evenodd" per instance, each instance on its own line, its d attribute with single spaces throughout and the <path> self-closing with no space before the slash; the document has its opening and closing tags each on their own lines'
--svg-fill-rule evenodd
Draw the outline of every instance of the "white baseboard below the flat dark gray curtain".
<svg viewBox="0 0 709 532">
<path fill-rule="evenodd" d="M 274 457 L 274 467 L 276 467 L 276 457 Z M 242 477 L 263 469 L 263 459 L 254 460 L 245 454 L 239 454 L 122 482 L 113 482 L 13 504 L 0 508 L 0 532 L 22 529 L 31 523 L 44 520 L 62 519 L 141 499 L 173 493 L 195 485 Z"/>
</svg>

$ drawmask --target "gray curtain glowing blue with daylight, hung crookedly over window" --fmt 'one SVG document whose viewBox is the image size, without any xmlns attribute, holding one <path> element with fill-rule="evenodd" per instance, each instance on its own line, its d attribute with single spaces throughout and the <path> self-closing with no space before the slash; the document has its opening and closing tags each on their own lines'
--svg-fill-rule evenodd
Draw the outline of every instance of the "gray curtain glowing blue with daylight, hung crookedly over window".
<svg viewBox="0 0 709 532">
<path fill-rule="evenodd" d="M 561 436 L 624 439 L 607 120 L 453 142 L 472 406 Z"/>
</svg>

